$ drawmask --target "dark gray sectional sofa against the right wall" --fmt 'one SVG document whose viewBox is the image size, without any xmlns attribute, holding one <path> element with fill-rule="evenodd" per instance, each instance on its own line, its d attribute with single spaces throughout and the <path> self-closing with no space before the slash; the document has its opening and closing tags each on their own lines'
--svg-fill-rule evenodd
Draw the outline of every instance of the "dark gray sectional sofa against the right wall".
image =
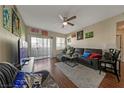
<svg viewBox="0 0 124 93">
<path fill-rule="evenodd" d="M 82 58 L 81 55 L 85 51 L 90 51 L 91 53 L 98 53 L 102 56 L 102 49 L 92 49 L 92 48 L 74 48 L 73 54 L 79 54 L 78 56 L 78 63 L 85 65 L 87 67 L 93 68 L 93 69 L 99 69 L 99 62 L 98 59 L 93 58 L 93 59 L 88 59 L 88 58 Z M 57 59 L 61 62 L 65 61 L 65 53 L 61 53 L 57 56 Z M 71 55 L 71 56 L 72 56 Z"/>
</svg>

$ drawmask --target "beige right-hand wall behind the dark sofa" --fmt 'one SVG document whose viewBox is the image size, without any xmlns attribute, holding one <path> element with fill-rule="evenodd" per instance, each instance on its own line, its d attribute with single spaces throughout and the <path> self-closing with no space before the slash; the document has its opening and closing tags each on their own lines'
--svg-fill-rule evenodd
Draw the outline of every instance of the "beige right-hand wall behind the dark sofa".
<svg viewBox="0 0 124 93">
<path fill-rule="evenodd" d="M 124 13 L 87 26 L 83 28 L 84 33 L 93 31 L 94 37 L 83 40 L 71 38 L 71 45 L 79 48 L 116 48 L 116 23 L 121 20 L 124 20 Z"/>
</svg>

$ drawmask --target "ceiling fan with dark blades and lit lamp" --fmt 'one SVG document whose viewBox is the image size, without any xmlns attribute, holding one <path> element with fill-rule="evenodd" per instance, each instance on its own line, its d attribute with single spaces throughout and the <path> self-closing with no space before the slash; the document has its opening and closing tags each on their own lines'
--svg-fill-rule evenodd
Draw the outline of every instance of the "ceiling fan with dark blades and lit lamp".
<svg viewBox="0 0 124 93">
<path fill-rule="evenodd" d="M 70 26 L 74 26 L 73 23 L 70 23 L 69 21 L 73 20 L 76 18 L 76 16 L 72 16 L 70 18 L 67 17 L 63 17 L 62 15 L 59 15 L 59 18 L 62 20 L 62 27 L 66 26 L 66 25 L 70 25 Z"/>
</svg>

